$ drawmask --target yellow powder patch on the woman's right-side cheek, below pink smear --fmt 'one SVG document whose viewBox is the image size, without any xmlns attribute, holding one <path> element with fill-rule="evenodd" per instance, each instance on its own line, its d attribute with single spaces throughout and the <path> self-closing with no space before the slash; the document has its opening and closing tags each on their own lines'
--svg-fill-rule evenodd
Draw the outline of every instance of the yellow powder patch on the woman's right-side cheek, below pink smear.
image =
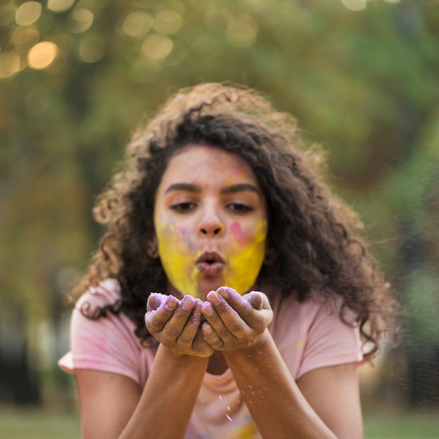
<svg viewBox="0 0 439 439">
<path fill-rule="evenodd" d="M 236 241 L 231 251 L 224 271 L 224 285 L 234 288 L 241 295 L 254 285 L 264 262 L 266 233 L 266 221 L 261 220 L 245 243 Z"/>
</svg>

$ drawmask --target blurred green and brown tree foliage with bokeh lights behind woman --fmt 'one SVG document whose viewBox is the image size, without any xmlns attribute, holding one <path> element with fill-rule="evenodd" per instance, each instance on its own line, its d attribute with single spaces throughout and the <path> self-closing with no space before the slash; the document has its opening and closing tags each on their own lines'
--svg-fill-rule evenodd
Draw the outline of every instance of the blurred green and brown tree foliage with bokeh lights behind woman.
<svg viewBox="0 0 439 439">
<path fill-rule="evenodd" d="M 95 196 L 137 124 L 201 81 L 262 90 L 323 144 L 403 304 L 364 398 L 438 405 L 439 0 L 0 0 L 0 403 L 66 398 Z"/>
</svg>

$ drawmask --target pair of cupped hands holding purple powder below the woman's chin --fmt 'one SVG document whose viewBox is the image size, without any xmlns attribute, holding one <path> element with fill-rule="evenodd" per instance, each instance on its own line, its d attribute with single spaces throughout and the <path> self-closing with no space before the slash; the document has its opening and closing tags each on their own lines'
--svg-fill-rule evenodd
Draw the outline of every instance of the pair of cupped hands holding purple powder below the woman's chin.
<svg viewBox="0 0 439 439">
<path fill-rule="evenodd" d="M 215 350 L 246 349 L 257 342 L 273 318 L 263 292 L 243 296 L 229 287 L 207 295 L 206 302 L 151 293 L 145 323 L 154 338 L 177 355 L 206 357 Z"/>
</svg>

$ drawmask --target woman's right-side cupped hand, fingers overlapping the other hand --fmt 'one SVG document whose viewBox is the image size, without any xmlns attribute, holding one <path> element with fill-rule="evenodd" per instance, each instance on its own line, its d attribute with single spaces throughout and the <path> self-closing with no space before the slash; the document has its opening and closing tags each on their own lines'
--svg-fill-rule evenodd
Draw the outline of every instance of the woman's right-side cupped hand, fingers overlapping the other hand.
<svg viewBox="0 0 439 439">
<path fill-rule="evenodd" d="M 252 291 L 239 295 L 228 287 L 209 292 L 201 306 L 207 320 L 201 325 L 203 338 L 213 349 L 245 349 L 257 342 L 273 319 L 268 297 Z"/>
</svg>

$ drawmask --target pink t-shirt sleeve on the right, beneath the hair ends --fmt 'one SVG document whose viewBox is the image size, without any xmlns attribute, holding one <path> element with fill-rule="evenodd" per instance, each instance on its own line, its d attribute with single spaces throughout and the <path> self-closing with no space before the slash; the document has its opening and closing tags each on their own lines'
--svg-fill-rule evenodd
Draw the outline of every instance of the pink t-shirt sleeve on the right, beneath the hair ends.
<svg viewBox="0 0 439 439">
<path fill-rule="evenodd" d="M 358 363 L 363 360 L 362 343 L 353 313 L 344 313 L 349 325 L 339 317 L 339 306 L 322 305 L 306 335 L 297 376 L 320 367 Z"/>
</svg>

